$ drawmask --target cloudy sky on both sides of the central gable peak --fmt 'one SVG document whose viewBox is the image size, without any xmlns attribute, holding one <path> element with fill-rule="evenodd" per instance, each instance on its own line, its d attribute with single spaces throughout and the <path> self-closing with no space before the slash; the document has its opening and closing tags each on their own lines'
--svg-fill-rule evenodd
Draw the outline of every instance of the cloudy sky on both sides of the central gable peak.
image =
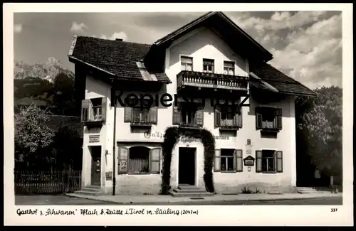
<svg viewBox="0 0 356 231">
<path fill-rule="evenodd" d="M 273 54 L 269 63 L 310 88 L 342 86 L 340 11 L 224 12 Z M 15 13 L 14 58 L 66 68 L 74 34 L 153 43 L 199 13 Z"/>
</svg>

